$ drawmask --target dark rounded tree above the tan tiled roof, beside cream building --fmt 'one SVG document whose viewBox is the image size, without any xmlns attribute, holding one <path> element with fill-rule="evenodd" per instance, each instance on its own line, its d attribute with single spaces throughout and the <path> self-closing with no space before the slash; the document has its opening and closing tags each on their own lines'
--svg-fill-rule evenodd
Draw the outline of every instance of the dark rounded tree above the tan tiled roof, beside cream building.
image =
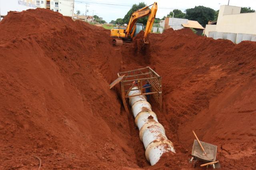
<svg viewBox="0 0 256 170">
<path fill-rule="evenodd" d="M 214 20 L 214 16 L 215 10 L 205 6 L 195 6 L 186 10 L 186 19 L 198 21 L 204 27 L 209 20 Z"/>
</svg>

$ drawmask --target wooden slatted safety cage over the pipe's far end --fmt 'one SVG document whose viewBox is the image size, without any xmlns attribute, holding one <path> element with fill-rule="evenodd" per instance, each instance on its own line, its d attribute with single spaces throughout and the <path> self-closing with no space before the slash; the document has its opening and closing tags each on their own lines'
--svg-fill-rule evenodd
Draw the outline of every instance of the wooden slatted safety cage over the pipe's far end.
<svg viewBox="0 0 256 170">
<path fill-rule="evenodd" d="M 124 104 L 125 110 L 128 112 L 128 107 L 126 104 L 126 99 L 134 96 L 141 95 L 152 95 L 155 102 L 158 104 L 160 111 L 162 111 L 162 77 L 159 76 L 152 68 L 145 67 L 136 70 L 130 70 L 125 72 L 118 72 L 118 77 L 122 77 L 123 79 L 120 81 L 121 87 L 121 96 Z M 132 87 L 134 86 L 134 82 L 138 84 L 138 90 L 140 90 L 140 94 L 135 94 L 129 96 L 129 92 L 132 91 Z M 143 92 L 143 85 L 149 82 L 151 88 L 149 93 Z"/>
</svg>

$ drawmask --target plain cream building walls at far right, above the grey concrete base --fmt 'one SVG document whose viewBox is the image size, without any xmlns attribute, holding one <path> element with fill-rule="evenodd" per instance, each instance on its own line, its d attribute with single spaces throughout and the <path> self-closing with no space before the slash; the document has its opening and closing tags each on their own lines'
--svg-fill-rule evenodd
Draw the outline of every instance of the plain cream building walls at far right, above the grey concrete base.
<svg viewBox="0 0 256 170">
<path fill-rule="evenodd" d="M 256 12 L 240 14 L 240 10 L 237 6 L 220 6 L 216 28 L 206 25 L 206 35 L 209 31 L 256 34 Z"/>
</svg>

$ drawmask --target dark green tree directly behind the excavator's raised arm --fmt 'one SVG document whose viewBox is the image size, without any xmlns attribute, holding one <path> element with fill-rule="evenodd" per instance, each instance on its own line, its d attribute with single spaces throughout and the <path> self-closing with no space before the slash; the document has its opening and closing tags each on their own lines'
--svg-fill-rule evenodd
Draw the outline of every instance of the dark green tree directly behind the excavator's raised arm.
<svg viewBox="0 0 256 170">
<path fill-rule="evenodd" d="M 124 16 L 124 23 L 129 23 L 130 21 L 130 17 L 132 16 L 132 13 L 134 13 L 135 11 L 140 10 L 141 8 L 144 8 L 146 6 L 146 4 L 144 2 L 140 2 L 138 5 L 137 4 L 133 4 L 132 8 L 127 12 L 127 14 Z M 137 23 L 143 23 L 143 25 L 146 25 L 148 21 L 148 17 L 143 17 L 138 19 Z"/>
</svg>

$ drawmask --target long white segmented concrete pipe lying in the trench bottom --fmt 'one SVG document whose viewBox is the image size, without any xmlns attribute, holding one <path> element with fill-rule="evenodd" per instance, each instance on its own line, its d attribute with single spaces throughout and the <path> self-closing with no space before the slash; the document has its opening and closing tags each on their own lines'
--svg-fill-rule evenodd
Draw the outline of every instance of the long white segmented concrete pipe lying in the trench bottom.
<svg viewBox="0 0 256 170">
<path fill-rule="evenodd" d="M 141 94 L 138 87 L 133 87 L 129 96 Z M 140 130 L 140 140 L 146 149 L 145 156 L 151 165 L 158 162 L 165 152 L 174 152 L 173 144 L 167 139 L 164 127 L 158 122 L 156 113 L 152 111 L 151 105 L 145 96 L 134 96 L 129 98 L 135 123 Z"/>
</svg>

